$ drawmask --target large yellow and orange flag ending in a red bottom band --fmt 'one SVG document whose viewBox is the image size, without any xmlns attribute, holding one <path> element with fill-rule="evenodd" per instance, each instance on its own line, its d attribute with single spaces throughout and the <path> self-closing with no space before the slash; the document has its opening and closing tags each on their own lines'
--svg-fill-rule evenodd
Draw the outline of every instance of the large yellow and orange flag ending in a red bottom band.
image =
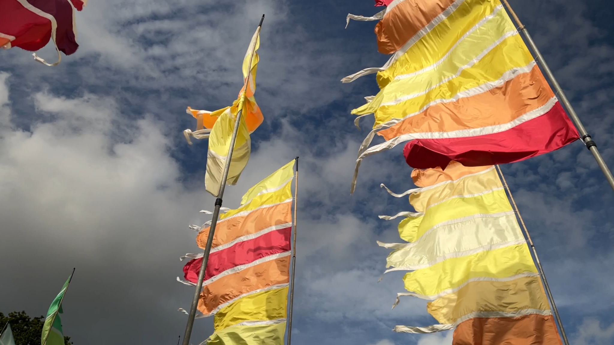
<svg viewBox="0 0 614 345">
<path fill-rule="evenodd" d="M 511 163 L 579 138 L 499 0 L 392 2 L 378 23 L 389 61 L 380 88 L 352 110 L 374 114 L 360 161 L 405 143 L 414 168 Z M 356 121 L 358 121 L 357 118 Z M 369 147 L 373 136 L 384 139 Z"/>
</svg>

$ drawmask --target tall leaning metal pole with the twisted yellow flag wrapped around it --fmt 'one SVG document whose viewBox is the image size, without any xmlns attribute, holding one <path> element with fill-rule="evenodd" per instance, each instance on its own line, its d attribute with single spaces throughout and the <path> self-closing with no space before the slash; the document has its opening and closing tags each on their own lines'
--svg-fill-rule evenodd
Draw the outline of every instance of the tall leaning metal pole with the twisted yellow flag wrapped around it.
<svg viewBox="0 0 614 345">
<path fill-rule="evenodd" d="M 258 35 L 260 35 L 260 28 L 262 27 L 262 21 L 264 20 L 265 20 L 265 15 L 262 15 L 262 18 L 260 19 L 260 24 L 258 24 L 258 28 L 256 29 L 258 31 Z M 252 53 L 249 58 L 249 64 L 247 66 L 247 80 L 245 81 L 245 85 L 249 84 L 249 77 L 251 76 L 252 60 L 254 60 L 256 42 L 257 40 L 254 41 L 254 45 L 252 45 L 251 47 Z M 246 91 L 247 90 L 243 90 L 243 94 L 241 95 L 241 98 L 245 99 Z M 239 102 L 239 104 L 241 103 Z M 213 242 L 213 235 L 216 231 L 217 217 L 220 214 L 220 207 L 222 207 L 222 197 L 224 195 L 224 188 L 226 187 L 226 179 L 228 178 L 228 169 L 230 169 L 230 161 L 232 160 L 232 153 L 233 153 L 233 150 L 235 149 L 236 134 L 239 130 L 239 120 L 241 119 L 242 110 L 243 109 L 239 109 L 239 111 L 236 114 L 235 128 L 233 130 L 232 137 L 230 138 L 230 147 L 228 147 L 228 155 L 227 155 L 226 163 L 224 165 L 224 170 L 222 172 L 222 181 L 220 183 L 220 188 L 217 192 L 217 198 L 216 198 L 216 204 L 215 204 L 216 208 L 213 211 L 213 215 L 211 219 L 211 227 L 209 227 L 209 236 L 207 238 L 207 244 L 204 247 L 203 262 L 200 265 L 200 272 L 198 273 L 198 282 L 196 282 L 196 288 L 194 289 L 194 297 L 192 298 L 192 305 L 190 306 L 190 312 L 188 313 L 188 322 L 187 322 L 187 325 L 185 325 L 184 341 L 182 343 L 183 345 L 190 344 L 190 336 L 192 336 L 192 327 L 194 326 L 194 317 L 196 316 L 196 307 L 198 306 L 198 298 L 200 297 L 200 292 L 203 289 L 204 271 L 205 271 L 205 268 L 207 267 L 207 262 L 209 260 L 209 253 L 211 252 L 211 244 Z"/>
</svg>

